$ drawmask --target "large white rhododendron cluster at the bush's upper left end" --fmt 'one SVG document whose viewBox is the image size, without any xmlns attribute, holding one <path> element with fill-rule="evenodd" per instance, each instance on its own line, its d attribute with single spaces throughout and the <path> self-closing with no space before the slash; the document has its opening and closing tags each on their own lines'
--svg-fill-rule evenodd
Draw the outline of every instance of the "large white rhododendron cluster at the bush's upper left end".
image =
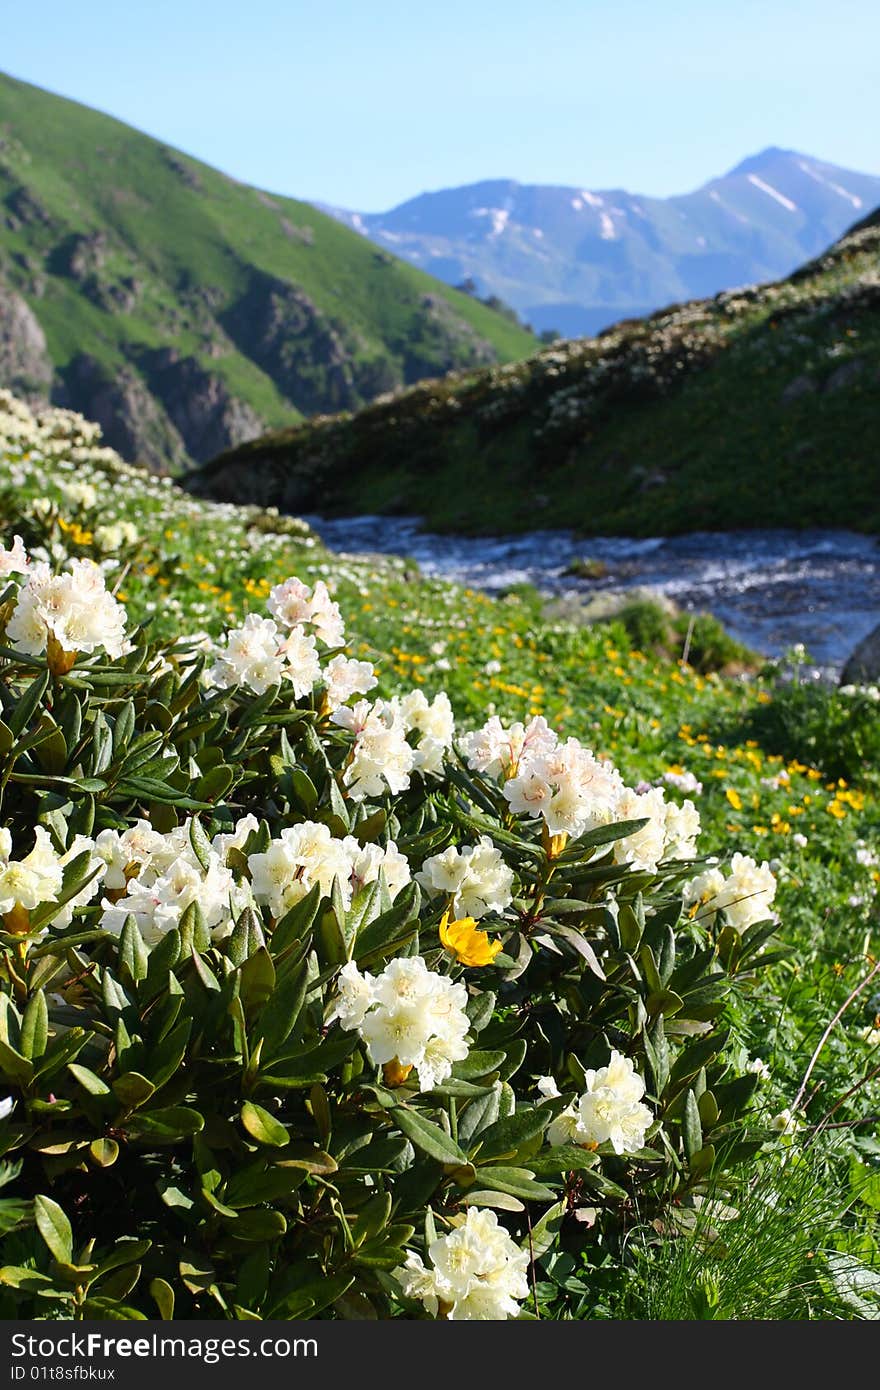
<svg viewBox="0 0 880 1390">
<path fill-rule="evenodd" d="M 103 570 L 93 560 L 71 560 L 63 574 L 53 574 L 43 560 L 31 566 L 6 635 L 28 656 L 44 652 L 50 639 L 63 652 L 90 653 L 103 646 L 118 657 L 131 651 L 125 609 L 107 592 Z"/>
</svg>

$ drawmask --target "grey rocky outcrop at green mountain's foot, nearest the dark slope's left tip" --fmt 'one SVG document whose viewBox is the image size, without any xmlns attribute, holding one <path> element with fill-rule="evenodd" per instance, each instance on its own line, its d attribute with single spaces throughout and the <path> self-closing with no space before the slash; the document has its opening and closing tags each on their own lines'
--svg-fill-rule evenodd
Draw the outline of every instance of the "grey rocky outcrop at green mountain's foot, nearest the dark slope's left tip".
<svg viewBox="0 0 880 1390">
<path fill-rule="evenodd" d="M 195 357 L 184 357 L 175 348 L 160 348 L 143 353 L 140 366 L 190 459 L 211 459 L 254 439 L 264 428 L 256 410 Z"/>
</svg>

